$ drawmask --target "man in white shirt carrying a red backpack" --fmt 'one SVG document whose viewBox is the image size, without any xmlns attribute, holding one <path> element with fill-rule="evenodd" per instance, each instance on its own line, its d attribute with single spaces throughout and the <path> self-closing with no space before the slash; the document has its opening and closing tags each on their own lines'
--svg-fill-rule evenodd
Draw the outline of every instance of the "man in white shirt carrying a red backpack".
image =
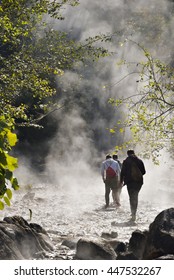
<svg viewBox="0 0 174 280">
<path fill-rule="evenodd" d="M 105 183 L 105 208 L 109 207 L 110 191 L 117 188 L 120 172 L 121 170 L 118 162 L 113 160 L 111 155 L 107 155 L 106 160 L 102 162 L 101 166 L 101 175 Z"/>
</svg>

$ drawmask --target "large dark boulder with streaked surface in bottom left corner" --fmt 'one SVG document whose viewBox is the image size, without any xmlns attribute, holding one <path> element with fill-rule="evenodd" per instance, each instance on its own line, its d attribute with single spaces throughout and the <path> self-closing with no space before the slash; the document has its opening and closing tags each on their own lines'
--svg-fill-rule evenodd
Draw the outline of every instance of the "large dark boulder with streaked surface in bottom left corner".
<svg viewBox="0 0 174 280">
<path fill-rule="evenodd" d="M 0 259 L 32 259 L 39 252 L 51 252 L 53 246 L 46 231 L 37 224 L 29 224 L 20 216 L 0 221 Z"/>
</svg>

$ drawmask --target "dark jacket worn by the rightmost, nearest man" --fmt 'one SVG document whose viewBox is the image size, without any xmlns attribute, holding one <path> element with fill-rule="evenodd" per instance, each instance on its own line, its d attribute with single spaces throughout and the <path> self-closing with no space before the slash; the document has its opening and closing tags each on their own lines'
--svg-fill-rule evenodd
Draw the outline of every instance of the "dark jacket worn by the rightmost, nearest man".
<svg viewBox="0 0 174 280">
<path fill-rule="evenodd" d="M 134 179 L 132 178 L 132 175 L 131 175 L 131 168 L 132 168 L 133 164 L 136 164 L 138 166 L 142 175 L 144 175 L 146 173 L 144 163 L 141 159 L 139 159 L 135 155 L 128 156 L 123 161 L 121 174 L 120 174 L 120 181 L 124 182 L 125 185 L 134 182 Z M 143 184 L 143 176 L 142 176 L 141 182 L 139 182 L 139 183 Z"/>
</svg>

